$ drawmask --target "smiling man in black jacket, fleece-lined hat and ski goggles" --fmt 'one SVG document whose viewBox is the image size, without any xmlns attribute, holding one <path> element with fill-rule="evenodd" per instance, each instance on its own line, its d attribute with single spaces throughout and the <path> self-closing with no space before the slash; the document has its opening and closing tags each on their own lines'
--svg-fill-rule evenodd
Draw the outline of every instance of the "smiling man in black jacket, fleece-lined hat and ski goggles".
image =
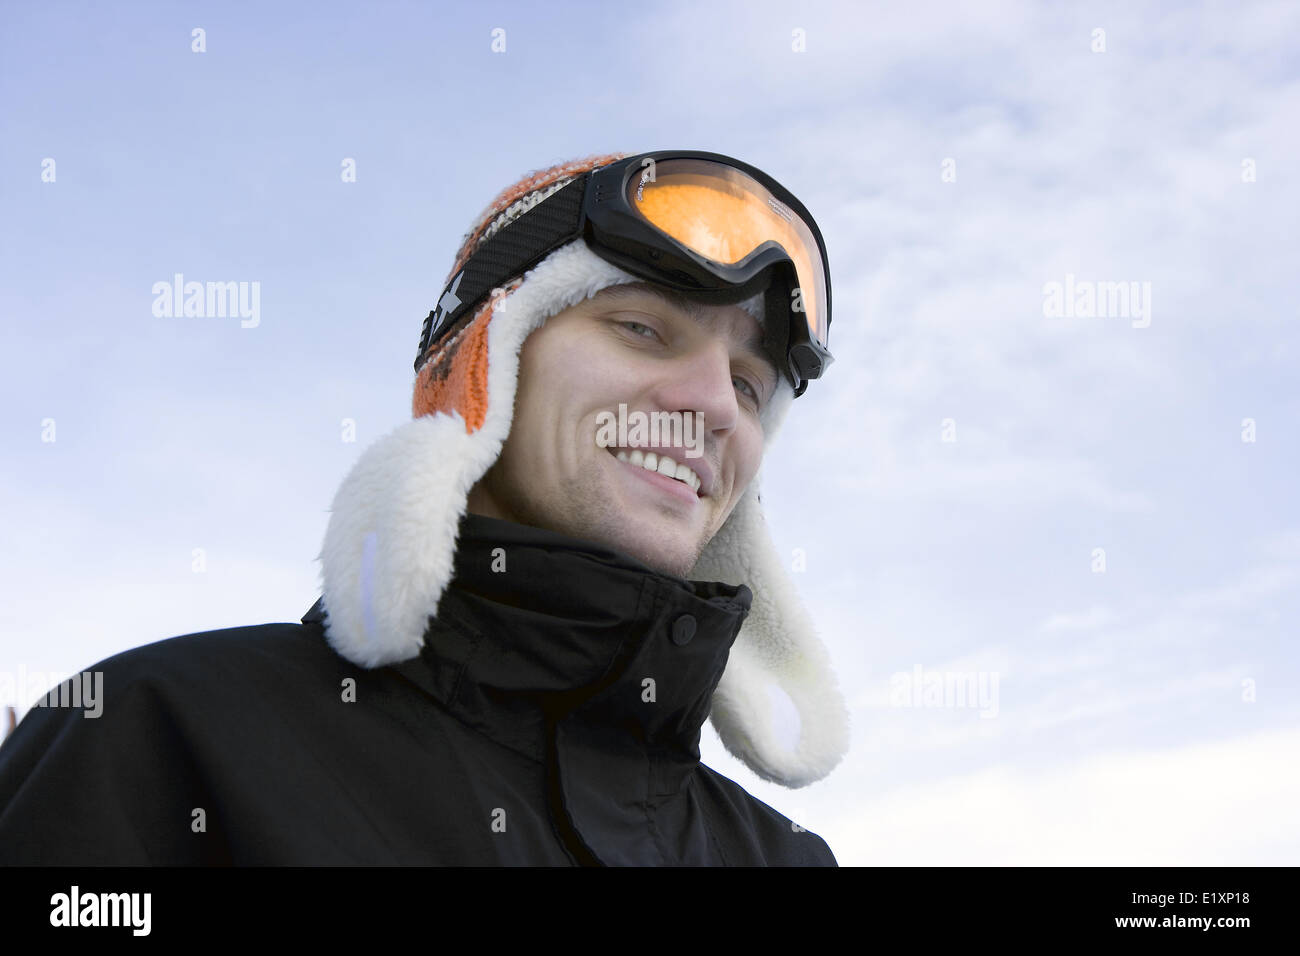
<svg viewBox="0 0 1300 956">
<path fill-rule="evenodd" d="M 320 601 L 96 665 L 95 719 L 34 708 L 0 864 L 833 866 L 698 749 L 710 718 L 801 787 L 848 745 L 757 481 L 828 325 L 820 234 L 751 166 L 615 153 L 504 190 L 412 420 L 335 496 Z"/>
</svg>

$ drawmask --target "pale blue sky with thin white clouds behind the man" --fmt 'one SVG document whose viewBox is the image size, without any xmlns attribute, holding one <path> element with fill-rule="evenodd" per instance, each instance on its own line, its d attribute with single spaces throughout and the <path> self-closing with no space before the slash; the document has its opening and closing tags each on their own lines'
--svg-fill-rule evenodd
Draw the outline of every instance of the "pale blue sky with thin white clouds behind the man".
<svg viewBox="0 0 1300 956">
<path fill-rule="evenodd" d="M 1296 865 L 1296 38 L 1287 3 L 4 4 L 0 705 L 296 622 L 486 203 L 706 150 L 828 248 L 835 363 L 760 480 L 853 743 L 801 790 L 708 724 L 703 761 L 841 865 Z M 256 321 L 155 315 L 177 273 Z"/>
</svg>

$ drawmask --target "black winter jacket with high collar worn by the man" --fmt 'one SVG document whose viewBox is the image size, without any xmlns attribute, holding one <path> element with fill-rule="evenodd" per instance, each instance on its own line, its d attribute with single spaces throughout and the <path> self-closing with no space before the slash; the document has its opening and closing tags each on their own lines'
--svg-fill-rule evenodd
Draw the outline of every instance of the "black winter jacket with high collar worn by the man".
<svg viewBox="0 0 1300 956">
<path fill-rule="evenodd" d="M 108 658 L 98 718 L 32 708 L 0 864 L 835 866 L 699 762 L 750 598 L 465 515 L 417 658 L 350 663 L 317 601 Z"/>
</svg>

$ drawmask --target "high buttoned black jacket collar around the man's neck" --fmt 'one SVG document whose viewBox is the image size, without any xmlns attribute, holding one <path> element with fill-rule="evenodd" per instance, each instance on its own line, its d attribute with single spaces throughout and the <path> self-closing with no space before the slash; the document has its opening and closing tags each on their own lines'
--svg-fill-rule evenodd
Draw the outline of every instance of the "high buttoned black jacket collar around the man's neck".
<svg viewBox="0 0 1300 956">
<path fill-rule="evenodd" d="M 391 665 L 462 722 L 545 760 L 547 722 L 627 736 L 680 779 L 753 594 L 558 532 L 465 514 L 419 657 Z M 303 618 L 321 620 L 321 601 Z M 672 788 L 675 779 L 663 779 Z"/>
</svg>

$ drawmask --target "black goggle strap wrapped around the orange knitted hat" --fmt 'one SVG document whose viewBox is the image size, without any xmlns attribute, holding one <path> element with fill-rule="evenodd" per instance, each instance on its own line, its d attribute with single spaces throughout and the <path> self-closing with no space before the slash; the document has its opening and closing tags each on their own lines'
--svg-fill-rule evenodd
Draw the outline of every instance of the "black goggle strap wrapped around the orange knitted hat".
<svg viewBox="0 0 1300 956">
<path fill-rule="evenodd" d="M 546 196 L 502 226 L 469 256 L 424 320 L 415 367 L 438 333 L 454 325 L 474 303 L 507 280 L 540 263 L 547 252 L 581 235 L 582 198 L 589 173 Z"/>
</svg>

